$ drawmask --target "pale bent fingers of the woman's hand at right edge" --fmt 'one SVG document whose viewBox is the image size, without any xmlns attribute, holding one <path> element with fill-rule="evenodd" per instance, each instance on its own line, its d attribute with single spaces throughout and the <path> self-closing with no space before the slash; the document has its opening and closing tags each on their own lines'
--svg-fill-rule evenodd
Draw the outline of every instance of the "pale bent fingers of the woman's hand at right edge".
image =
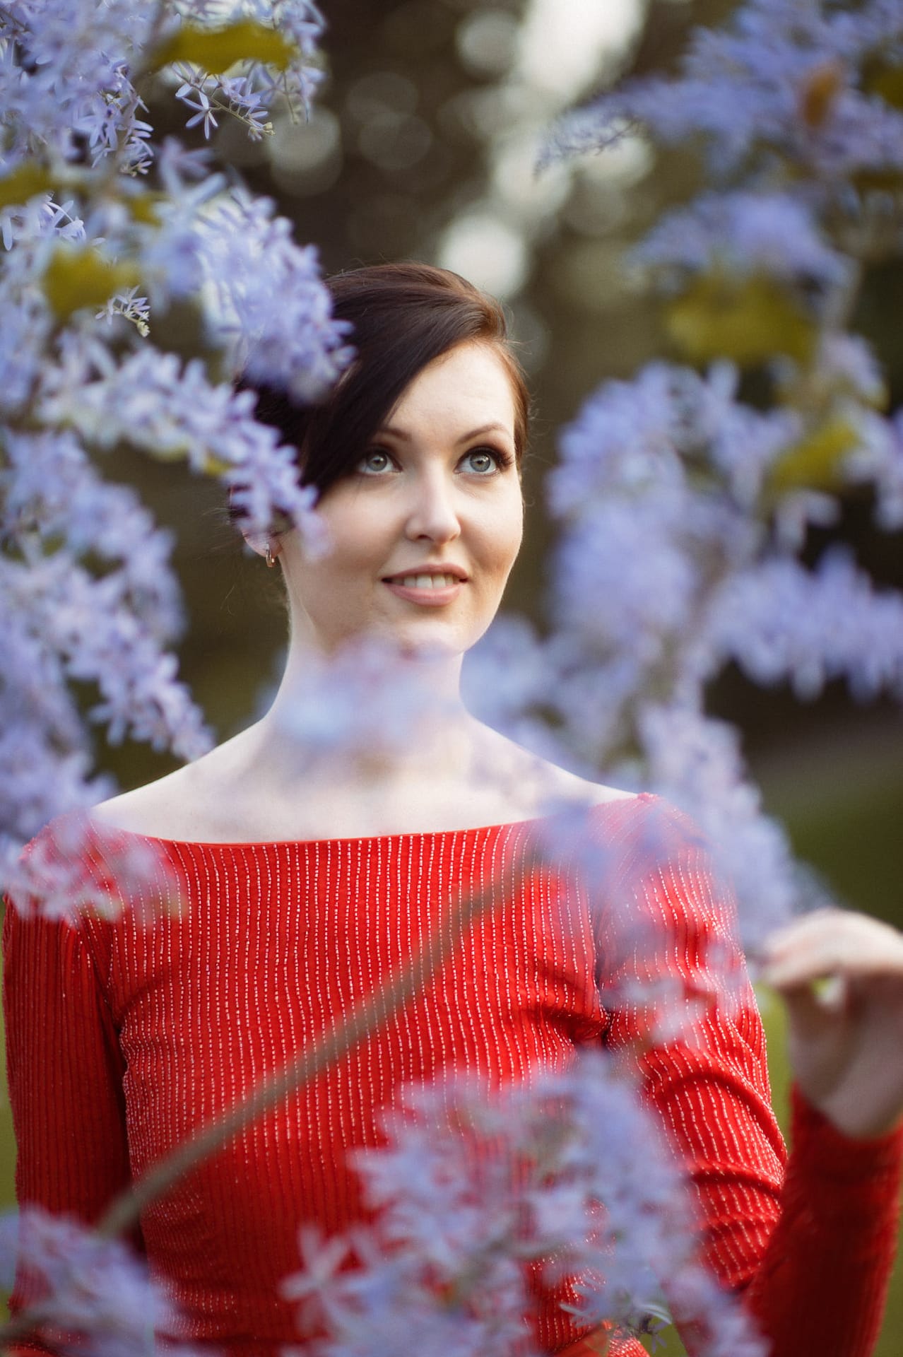
<svg viewBox="0 0 903 1357">
<path fill-rule="evenodd" d="M 771 934 L 762 959 L 761 978 L 781 991 L 824 976 L 903 980 L 903 934 L 868 915 L 816 909 Z"/>
</svg>

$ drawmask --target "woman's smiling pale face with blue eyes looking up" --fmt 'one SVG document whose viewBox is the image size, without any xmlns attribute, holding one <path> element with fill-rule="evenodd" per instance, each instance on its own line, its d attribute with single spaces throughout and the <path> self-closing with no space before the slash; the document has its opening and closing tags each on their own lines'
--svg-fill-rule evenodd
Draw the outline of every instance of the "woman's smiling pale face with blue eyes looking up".
<svg viewBox="0 0 903 1357">
<path fill-rule="evenodd" d="M 461 654 L 487 630 L 517 558 L 523 501 L 514 396 L 487 345 L 428 364 L 355 470 L 319 503 L 332 541 L 279 539 L 294 609 L 331 654 L 370 635 Z"/>
</svg>

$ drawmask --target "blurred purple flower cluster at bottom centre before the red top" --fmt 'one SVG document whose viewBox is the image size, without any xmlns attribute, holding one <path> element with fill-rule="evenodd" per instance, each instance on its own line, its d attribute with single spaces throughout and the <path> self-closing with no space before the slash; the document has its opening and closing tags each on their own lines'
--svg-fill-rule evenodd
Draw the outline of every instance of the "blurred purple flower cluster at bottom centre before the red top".
<svg viewBox="0 0 903 1357">
<path fill-rule="evenodd" d="M 424 1357 L 533 1357 L 538 1288 L 578 1324 L 624 1334 L 667 1315 L 666 1296 L 704 1320 L 709 1357 L 763 1353 L 701 1266 L 679 1168 L 637 1088 L 601 1054 L 502 1092 L 449 1073 L 408 1090 L 384 1129 L 386 1145 L 358 1155 L 373 1225 L 300 1234 L 302 1269 L 282 1289 L 304 1352 L 381 1357 L 414 1324 Z"/>
</svg>

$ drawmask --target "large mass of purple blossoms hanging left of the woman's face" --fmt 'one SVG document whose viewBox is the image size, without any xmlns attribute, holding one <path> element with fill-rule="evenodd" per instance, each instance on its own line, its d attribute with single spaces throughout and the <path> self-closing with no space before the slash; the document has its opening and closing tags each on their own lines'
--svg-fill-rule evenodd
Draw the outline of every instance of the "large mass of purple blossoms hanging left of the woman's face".
<svg viewBox="0 0 903 1357">
<path fill-rule="evenodd" d="M 270 202 L 226 194 L 205 156 L 172 138 L 155 148 L 138 117 L 130 81 L 165 65 L 176 38 L 241 24 L 274 41 L 278 27 L 297 58 L 240 62 L 213 84 L 191 66 L 190 79 L 255 123 L 278 91 L 306 99 L 316 84 L 323 20 L 306 0 L 14 0 L 0 14 L 3 882 L 47 820 L 113 790 L 91 778 L 75 685 L 96 691 L 89 718 L 113 741 L 184 759 L 209 745 L 168 649 L 182 623 L 168 535 L 96 459 L 121 445 L 184 459 L 224 482 L 251 531 L 286 514 L 323 540 L 296 453 L 255 422 L 251 392 L 153 345 L 156 315 L 178 300 L 197 308 L 220 373 L 266 372 L 304 400 L 348 360 L 316 252 Z M 148 194 L 152 172 L 160 193 Z"/>
</svg>

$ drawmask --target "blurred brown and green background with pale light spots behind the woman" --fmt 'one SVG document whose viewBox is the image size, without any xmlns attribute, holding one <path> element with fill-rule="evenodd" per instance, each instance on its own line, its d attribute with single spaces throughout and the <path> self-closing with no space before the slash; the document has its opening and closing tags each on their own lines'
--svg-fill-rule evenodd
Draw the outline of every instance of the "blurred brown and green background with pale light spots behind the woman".
<svg viewBox="0 0 903 1357">
<path fill-rule="evenodd" d="M 542 479 L 556 429 L 605 379 L 667 356 L 656 305 L 625 254 L 664 208 L 697 190 L 700 168 L 689 153 L 656 156 L 629 136 L 537 178 L 537 148 L 560 111 L 621 75 L 673 68 L 687 30 L 731 8 L 725 0 L 328 0 L 327 77 L 309 122 L 277 118 L 260 144 L 237 125 L 218 133 L 224 157 L 254 191 L 278 201 L 296 239 L 317 246 L 325 271 L 422 259 L 506 304 L 537 406 L 526 547 L 507 607 L 540 624 L 549 547 Z M 161 136 L 193 137 L 171 98 L 153 104 L 150 121 Z M 903 266 L 873 270 L 856 328 L 885 364 L 894 407 L 903 402 L 902 313 Z M 278 571 L 243 550 L 218 489 L 182 465 L 117 459 L 108 475 L 138 486 L 174 533 L 182 674 L 216 737 L 226 738 L 256 716 L 279 670 Z M 903 588 L 900 536 L 877 533 L 869 518 L 868 501 L 850 498 L 830 536 L 850 541 L 879 582 Z M 812 541 L 814 554 L 827 536 Z M 719 680 L 710 707 L 742 729 L 766 807 L 835 896 L 903 925 L 900 708 L 856 707 L 839 685 L 801 706 L 738 673 Z M 122 788 L 172 767 L 144 746 L 102 742 L 98 763 Z M 766 1006 L 766 1019 L 782 1110 L 780 1014 Z M 3 1117 L 0 1198 L 12 1201 L 5 1106 Z M 880 1357 L 899 1357 L 902 1339 L 898 1267 Z"/>
</svg>

